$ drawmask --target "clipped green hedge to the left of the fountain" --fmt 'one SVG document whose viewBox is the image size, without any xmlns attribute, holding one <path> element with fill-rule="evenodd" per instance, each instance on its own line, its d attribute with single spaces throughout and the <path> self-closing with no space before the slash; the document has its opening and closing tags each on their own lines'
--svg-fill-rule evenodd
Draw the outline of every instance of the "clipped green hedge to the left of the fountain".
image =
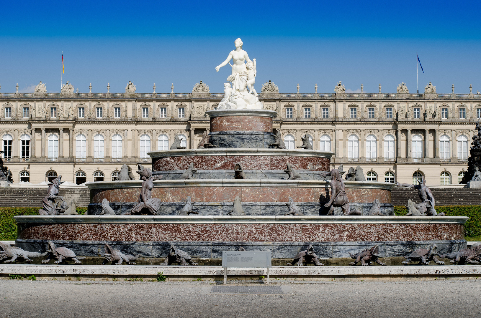
<svg viewBox="0 0 481 318">
<path fill-rule="evenodd" d="M 0 208 L 0 240 L 13 241 L 17 238 L 15 215 L 38 215 L 40 208 Z M 77 208 L 77 213 L 85 214 L 87 207 Z"/>
</svg>

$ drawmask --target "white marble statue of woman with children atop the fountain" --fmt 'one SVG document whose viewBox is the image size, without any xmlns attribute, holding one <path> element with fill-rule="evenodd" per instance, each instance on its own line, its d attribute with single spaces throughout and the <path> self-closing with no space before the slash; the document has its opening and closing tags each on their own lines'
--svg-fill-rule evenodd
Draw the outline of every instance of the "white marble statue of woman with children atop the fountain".
<svg viewBox="0 0 481 318">
<path fill-rule="evenodd" d="M 249 59 L 247 52 L 242 49 L 242 40 L 240 38 L 235 40 L 234 44 L 236 49 L 230 51 L 227 59 L 215 67 L 215 71 L 219 71 L 221 67 L 227 64 L 230 65 L 229 61 L 231 59 L 234 62 L 234 65 L 231 65 L 232 74 L 227 78 L 227 81 L 232 83 L 232 88 L 229 89 L 229 87 L 224 84 L 225 95 L 218 108 L 263 109 L 264 105 L 259 102 L 257 93 L 253 88 L 256 75 L 255 59 L 254 61 Z M 246 61 L 249 65 L 249 70 L 246 66 Z M 247 89 L 247 85 L 250 85 L 249 90 Z M 249 91 L 254 94 L 251 94 Z"/>
</svg>

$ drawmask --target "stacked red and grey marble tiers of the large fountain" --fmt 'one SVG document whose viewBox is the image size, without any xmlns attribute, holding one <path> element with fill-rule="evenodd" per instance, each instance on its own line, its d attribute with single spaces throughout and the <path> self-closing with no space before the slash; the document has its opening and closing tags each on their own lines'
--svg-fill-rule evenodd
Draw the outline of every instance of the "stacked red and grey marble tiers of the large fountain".
<svg viewBox="0 0 481 318">
<path fill-rule="evenodd" d="M 129 254 L 165 258 L 171 243 L 194 259 L 220 259 L 223 251 L 270 250 L 274 259 L 292 259 L 309 244 L 320 258 L 349 258 L 375 244 L 382 257 L 401 257 L 435 243 L 438 252 L 466 247 L 466 217 L 395 216 L 393 184 L 345 181 L 351 209 L 363 215 L 334 215 L 329 200 L 333 153 L 304 149 L 272 149 L 275 141 L 269 110 L 208 111 L 210 149 L 172 149 L 150 152 L 152 198 L 162 202 L 157 215 L 123 215 L 139 199 L 142 181 L 87 183 L 90 204 L 86 216 L 17 216 L 16 245 L 43 250 L 48 240 L 71 248 L 77 256 L 101 256 L 110 244 Z M 302 179 L 288 179 L 290 164 Z M 194 179 L 181 178 L 193 164 Z M 240 164 L 245 179 L 234 179 Z M 347 170 L 347 169 L 346 169 Z M 185 176 L 183 176 L 185 177 Z M 179 215 L 190 197 L 198 214 Z M 246 215 L 228 215 L 236 197 Z M 304 215 L 284 215 L 289 198 Z M 106 199 L 116 215 L 99 215 Z M 372 201 L 383 215 L 368 216 Z M 406 199 L 407 200 L 407 199 Z"/>
</svg>

